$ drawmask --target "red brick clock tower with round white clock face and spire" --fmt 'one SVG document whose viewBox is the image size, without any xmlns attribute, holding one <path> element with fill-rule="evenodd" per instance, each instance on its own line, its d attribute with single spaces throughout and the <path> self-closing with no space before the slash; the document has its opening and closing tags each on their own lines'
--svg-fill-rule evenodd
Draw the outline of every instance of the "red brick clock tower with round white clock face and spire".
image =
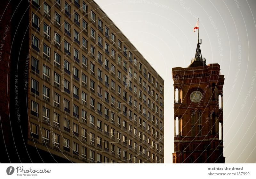
<svg viewBox="0 0 256 179">
<path fill-rule="evenodd" d="M 225 163 L 220 65 L 206 65 L 198 38 L 188 68 L 172 68 L 174 86 L 173 163 Z"/>
</svg>

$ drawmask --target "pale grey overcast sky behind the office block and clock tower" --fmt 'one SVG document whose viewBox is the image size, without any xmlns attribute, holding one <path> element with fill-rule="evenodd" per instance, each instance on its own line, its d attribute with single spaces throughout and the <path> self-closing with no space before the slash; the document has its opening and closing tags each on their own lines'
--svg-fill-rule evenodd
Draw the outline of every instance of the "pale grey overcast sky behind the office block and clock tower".
<svg viewBox="0 0 256 179">
<path fill-rule="evenodd" d="M 164 78 L 164 162 L 172 163 L 173 67 L 188 67 L 199 38 L 206 63 L 225 75 L 226 163 L 256 162 L 256 1 L 95 0 Z"/>
</svg>

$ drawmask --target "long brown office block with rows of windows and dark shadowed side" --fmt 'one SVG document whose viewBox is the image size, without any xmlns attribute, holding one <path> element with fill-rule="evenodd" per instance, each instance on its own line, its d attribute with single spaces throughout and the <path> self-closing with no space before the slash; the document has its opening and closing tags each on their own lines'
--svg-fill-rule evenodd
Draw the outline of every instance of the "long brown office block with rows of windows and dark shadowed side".
<svg viewBox="0 0 256 179">
<path fill-rule="evenodd" d="M 164 80 L 94 1 L 6 6 L 2 161 L 164 162 Z"/>
</svg>

